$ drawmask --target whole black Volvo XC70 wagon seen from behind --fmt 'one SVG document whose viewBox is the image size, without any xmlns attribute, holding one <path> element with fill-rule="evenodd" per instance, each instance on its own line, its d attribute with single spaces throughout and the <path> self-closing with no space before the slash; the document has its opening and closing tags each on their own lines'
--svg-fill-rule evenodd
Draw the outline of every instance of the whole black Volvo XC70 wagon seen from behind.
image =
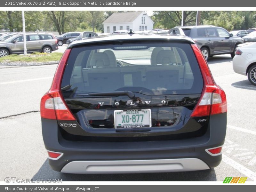
<svg viewBox="0 0 256 192">
<path fill-rule="evenodd" d="M 55 171 L 194 171 L 220 164 L 227 101 L 191 38 L 131 33 L 70 44 L 40 113 Z"/>
</svg>

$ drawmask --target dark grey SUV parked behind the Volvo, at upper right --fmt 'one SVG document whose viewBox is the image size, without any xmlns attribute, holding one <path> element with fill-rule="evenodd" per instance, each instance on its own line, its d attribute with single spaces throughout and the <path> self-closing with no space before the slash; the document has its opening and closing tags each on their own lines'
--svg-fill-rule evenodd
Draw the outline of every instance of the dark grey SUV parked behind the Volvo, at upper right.
<svg viewBox="0 0 256 192">
<path fill-rule="evenodd" d="M 182 30 L 182 32 L 181 32 Z M 243 39 L 221 27 L 183 26 L 170 29 L 169 34 L 180 34 L 191 37 L 199 46 L 206 60 L 210 56 L 230 53 L 235 57 L 236 47 L 244 43 Z"/>
</svg>

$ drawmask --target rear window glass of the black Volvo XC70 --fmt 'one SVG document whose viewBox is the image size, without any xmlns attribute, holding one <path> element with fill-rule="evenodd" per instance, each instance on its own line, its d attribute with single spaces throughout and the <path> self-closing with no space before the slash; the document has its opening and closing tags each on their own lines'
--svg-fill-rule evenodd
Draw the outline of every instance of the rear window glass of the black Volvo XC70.
<svg viewBox="0 0 256 192">
<path fill-rule="evenodd" d="M 203 80 L 189 44 L 109 44 L 72 48 L 61 87 L 65 98 L 112 91 L 198 94 Z"/>
</svg>

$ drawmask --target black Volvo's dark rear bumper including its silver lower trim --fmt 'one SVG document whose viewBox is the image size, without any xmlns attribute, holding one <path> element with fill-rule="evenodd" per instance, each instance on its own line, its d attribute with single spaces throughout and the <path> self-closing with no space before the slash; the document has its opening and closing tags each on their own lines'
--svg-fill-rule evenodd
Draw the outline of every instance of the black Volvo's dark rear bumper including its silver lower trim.
<svg viewBox="0 0 256 192">
<path fill-rule="evenodd" d="M 56 120 L 42 119 L 45 148 L 63 153 L 49 159 L 55 171 L 66 173 L 178 172 L 216 167 L 221 155 L 211 156 L 205 149 L 222 146 L 227 114 L 210 117 L 207 132 L 184 140 L 137 142 L 83 142 L 64 140 Z"/>
</svg>

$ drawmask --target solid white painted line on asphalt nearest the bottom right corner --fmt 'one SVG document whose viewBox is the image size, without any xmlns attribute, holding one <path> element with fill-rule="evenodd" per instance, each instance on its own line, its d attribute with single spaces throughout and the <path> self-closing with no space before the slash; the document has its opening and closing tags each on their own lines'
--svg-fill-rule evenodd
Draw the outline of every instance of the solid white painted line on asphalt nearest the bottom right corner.
<svg viewBox="0 0 256 192">
<path fill-rule="evenodd" d="M 246 167 L 244 167 L 243 165 L 237 163 L 236 161 L 234 161 L 233 159 L 229 158 L 228 156 L 222 154 L 222 161 L 224 163 L 230 165 L 231 167 L 233 167 L 237 171 L 241 172 L 242 174 L 246 175 L 251 180 L 256 181 L 256 173 L 255 172 L 251 171 L 250 169 L 247 169 Z"/>
</svg>

